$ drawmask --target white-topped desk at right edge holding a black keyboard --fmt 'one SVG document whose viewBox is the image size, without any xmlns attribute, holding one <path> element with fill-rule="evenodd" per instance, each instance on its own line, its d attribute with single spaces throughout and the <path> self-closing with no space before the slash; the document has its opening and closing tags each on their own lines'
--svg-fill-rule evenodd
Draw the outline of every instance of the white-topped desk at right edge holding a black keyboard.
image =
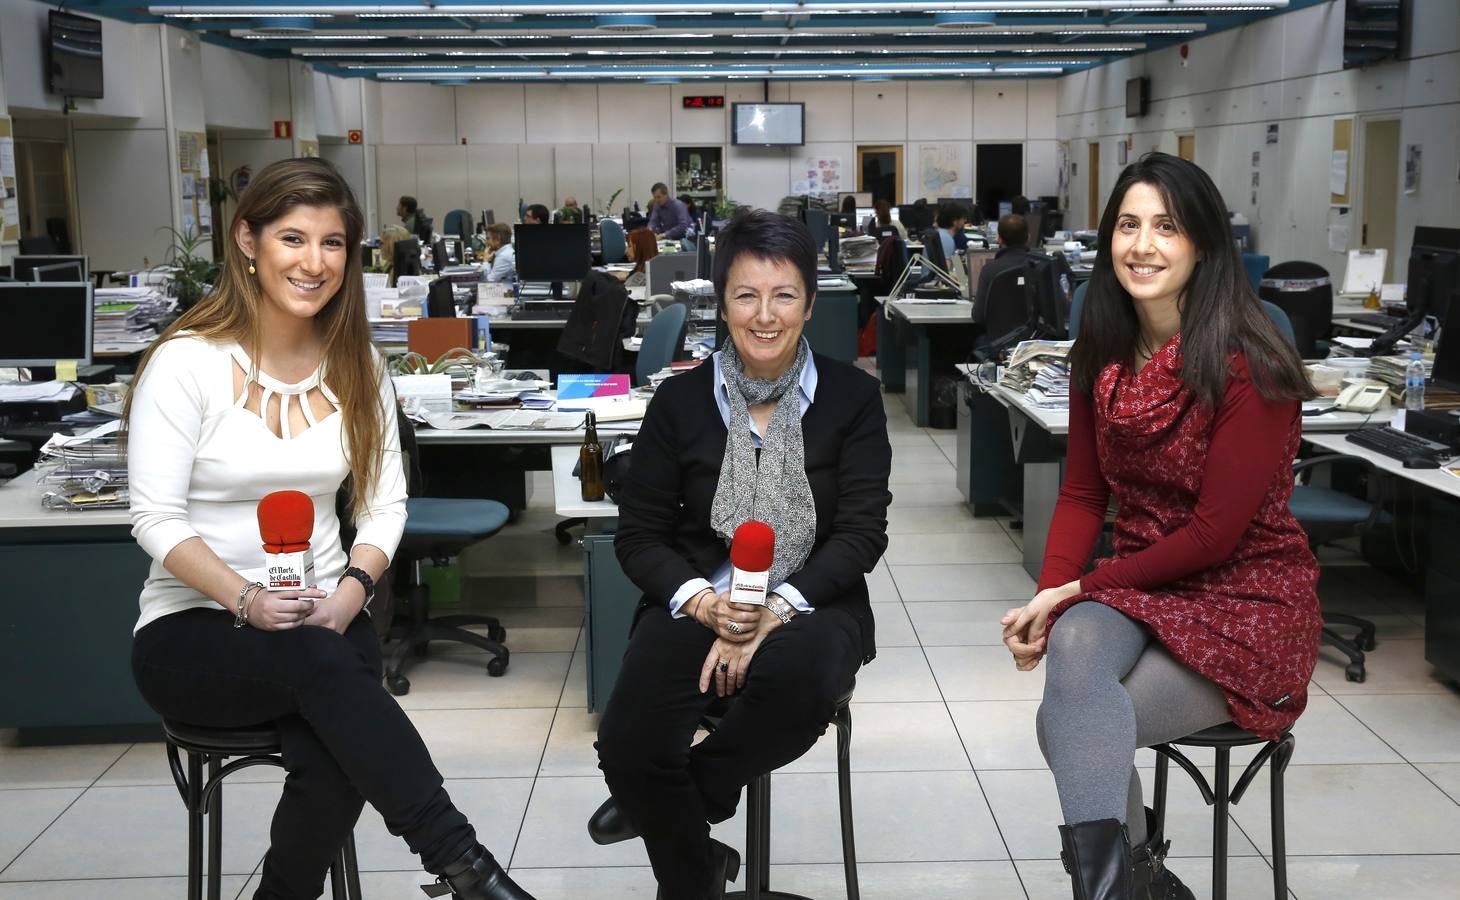
<svg viewBox="0 0 1460 900">
<path fill-rule="evenodd" d="M 1460 478 L 1444 469 L 1406 469 L 1405 463 L 1352 444 L 1342 434 L 1307 434 L 1302 440 L 1332 453 L 1368 460 L 1375 469 L 1425 488 L 1429 558 L 1425 568 L 1425 659 L 1445 678 L 1460 682 Z M 1415 523 L 1421 529 L 1421 523 Z"/>
</svg>

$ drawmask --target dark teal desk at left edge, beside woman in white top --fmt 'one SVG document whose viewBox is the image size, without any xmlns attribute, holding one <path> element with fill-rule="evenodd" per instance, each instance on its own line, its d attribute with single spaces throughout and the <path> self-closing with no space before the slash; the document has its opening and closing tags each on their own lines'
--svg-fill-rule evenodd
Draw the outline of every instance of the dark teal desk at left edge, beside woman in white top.
<svg viewBox="0 0 1460 900">
<path fill-rule="evenodd" d="M 127 510 L 42 510 L 34 470 L 0 485 L 0 728 L 26 744 L 158 738 L 131 681 L 150 562 Z"/>
</svg>

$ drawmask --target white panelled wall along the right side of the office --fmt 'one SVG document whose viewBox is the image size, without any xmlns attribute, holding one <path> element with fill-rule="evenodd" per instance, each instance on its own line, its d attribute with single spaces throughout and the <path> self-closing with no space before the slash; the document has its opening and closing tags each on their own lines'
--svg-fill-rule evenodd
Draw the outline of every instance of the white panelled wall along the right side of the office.
<svg viewBox="0 0 1460 900">
<path fill-rule="evenodd" d="M 1343 70 L 1343 3 L 1263 19 L 1188 45 L 1080 72 L 1058 80 L 1057 133 L 1077 164 L 1070 178 L 1066 221 L 1088 221 L 1088 146 L 1101 143 L 1101 206 L 1120 174 L 1117 148 L 1130 136 L 1132 158 L 1175 152 L 1177 134 L 1196 136 L 1196 161 L 1216 181 L 1228 207 L 1253 222 L 1259 253 L 1311 260 L 1342 276 L 1345 254 L 1329 250 L 1329 161 L 1334 118 L 1353 117 L 1355 148 L 1349 183 L 1355 222 L 1349 247 L 1359 247 L 1365 118 L 1400 121 L 1403 148 L 1424 148 L 1419 190 L 1399 190 L 1393 259 L 1409 256 L 1415 225 L 1460 225 L 1460 4 L 1413 0 L 1409 60 Z M 1149 114 L 1124 115 L 1126 79 L 1150 79 Z M 1267 124 L 1279 142 L 1266 143 Z M 1260 152 L 1260 190 L 1251 202 L 1251 155 Z M 1051 165 L 1053 171 L 1053 165 Z M 1402 172 L 1394 172 L 1400 183 Z M 1402 264 L 1402 263 L 1400 263 Z M 1397 272 L 1402 278 L 1403 269 Z"/>
</svg>

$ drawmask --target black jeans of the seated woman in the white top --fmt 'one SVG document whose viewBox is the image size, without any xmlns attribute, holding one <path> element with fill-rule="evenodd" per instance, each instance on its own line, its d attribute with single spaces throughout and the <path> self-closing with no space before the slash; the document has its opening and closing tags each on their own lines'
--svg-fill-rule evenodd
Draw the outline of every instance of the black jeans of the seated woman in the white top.
<svg viewBox="0 0 1460 900">
<path fill-rule="evenodd" d="M 318 897 L 366 801 L 428 871 L 476 843 L 420 735 L 380 684 L 368 615 L 342 636 L 314 625 L 234 628 L 223 609 L 185 609 L 137 633 L 131 671 L 168 719 L 279 726 L 288 776 L 256 897 Z"/>
</svg>

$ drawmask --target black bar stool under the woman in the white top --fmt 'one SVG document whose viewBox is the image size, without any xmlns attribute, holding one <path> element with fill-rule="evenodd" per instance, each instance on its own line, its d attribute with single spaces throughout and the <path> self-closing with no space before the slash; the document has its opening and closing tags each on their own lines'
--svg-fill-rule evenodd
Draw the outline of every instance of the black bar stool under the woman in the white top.
<svg viewBox="0 0 1460 900">
<path fill-rule="evenodd" d="M 203 852 L 207 852 L 207 900 L 219 900 L 223 877 L 223 779 L 250 766 L 283 769 L 279 731 L 273 725 L 248 728 L 203 728 L 172 719 L 162 720 L 168 742 L 168 766 L 187 806 L 187 900 L 203 899 Z M 187 754 L 187 767 L 180 758 Z M 223 764 L 223 760 L 234 758 Z M 207 779 L 203 779 L 203 767 Z M 203 820 L 207 818 L 207 840 Z M 350 834 L 330 863 L 334 900 L 361 900 L 361 874 Z"/>
</svg>

